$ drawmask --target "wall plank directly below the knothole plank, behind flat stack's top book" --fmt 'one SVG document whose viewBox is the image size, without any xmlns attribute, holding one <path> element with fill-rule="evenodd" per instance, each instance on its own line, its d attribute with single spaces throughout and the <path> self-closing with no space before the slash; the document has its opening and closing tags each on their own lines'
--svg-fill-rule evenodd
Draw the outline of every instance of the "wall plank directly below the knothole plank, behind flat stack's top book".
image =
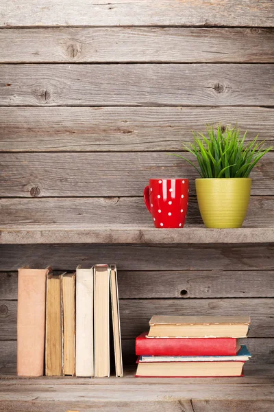
<svg viewBox="0 0 274 412">
<path fill-rule="evenodd" d="M 121 299 L 123 339 L 134 339 L 147 330 L 153 314 L 212 314 L 251 317 L 249 336 L 274 337 L 274 299 Z M 0 340 L 16 339 L 17 301 L 0 301 Z"/>
</svg>

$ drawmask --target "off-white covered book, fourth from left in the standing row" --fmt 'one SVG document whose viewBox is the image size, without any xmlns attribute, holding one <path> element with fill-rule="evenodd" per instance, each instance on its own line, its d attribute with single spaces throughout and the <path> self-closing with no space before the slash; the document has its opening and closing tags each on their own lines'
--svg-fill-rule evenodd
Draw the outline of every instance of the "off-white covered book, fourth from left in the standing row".
<svg viewBox="0 0 274 412">
<path fill-rule="evenodd" d="M 93 269 L 76 269 L 76 376 L 94 376 Z"/>
</svg>

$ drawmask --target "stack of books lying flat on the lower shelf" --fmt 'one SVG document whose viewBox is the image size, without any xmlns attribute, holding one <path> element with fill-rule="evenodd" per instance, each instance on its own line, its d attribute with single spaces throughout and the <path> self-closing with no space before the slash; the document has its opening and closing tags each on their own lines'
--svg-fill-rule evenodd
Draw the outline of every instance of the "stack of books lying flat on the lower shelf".
<svg viewBox="0 0 274 412">
<path fill-rule="evenodd" d="M 136 376 L 243 376 L 249 317 L 153 316 L 136 338 Z"/>
</svg>

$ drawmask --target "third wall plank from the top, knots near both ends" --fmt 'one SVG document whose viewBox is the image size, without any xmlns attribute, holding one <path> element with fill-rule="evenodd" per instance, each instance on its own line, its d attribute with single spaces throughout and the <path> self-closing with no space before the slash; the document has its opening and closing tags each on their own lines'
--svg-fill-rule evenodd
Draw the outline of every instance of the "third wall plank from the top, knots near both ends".
<svg viewBox="0 0 274 412">
<path fill-rule="evenodd" d="M 274 65 L 1 65 L 1 106 L 273 106 Z"/>
</svg>

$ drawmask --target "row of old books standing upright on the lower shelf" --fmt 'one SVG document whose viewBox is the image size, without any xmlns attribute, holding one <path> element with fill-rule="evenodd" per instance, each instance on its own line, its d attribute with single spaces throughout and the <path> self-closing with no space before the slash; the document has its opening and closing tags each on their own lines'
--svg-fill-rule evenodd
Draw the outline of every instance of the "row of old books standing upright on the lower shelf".
<svg viewBox="0 0 274 412">
<path fill-rule="evenodd" d="M 19 269 L 17 335 L 18 376 L 123 376 L 116 266 Z"/>
</svg>

